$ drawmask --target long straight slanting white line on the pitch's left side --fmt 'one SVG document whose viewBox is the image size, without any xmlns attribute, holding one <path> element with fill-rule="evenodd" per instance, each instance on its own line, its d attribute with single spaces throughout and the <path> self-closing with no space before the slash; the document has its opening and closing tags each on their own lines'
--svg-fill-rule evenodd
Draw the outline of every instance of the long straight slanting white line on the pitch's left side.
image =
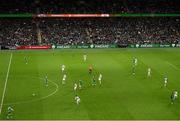
<svg viewBox="0 0 180 121">
<path fill-rule="evenodd" d="M 0 115 L 1 115 L 1 112 L 2 112 L 2 106 L 3 106 L 4 97 L 5 97 L 5 93 L 6 93 L 6 86 L 7 86 L 7 81 L 8 81 L 8 77 L 9 77 L 9 70 L 10 70 L 10 67 L 11 67 L 11 60 L 12 60 L 12 53 L 11 53 L 11 56 L 10 56 L 10 59 L 9 59 L 9 65 L 8 65 L 8 70 L 7 70 L 7 74 L 6 74 L 6 81 L 5 81 L 5 84 L 4 84 L 4 90 L 3 90 L 3 95 L 2 95 L 2 99 L 1 99 Z"/>
</svg>

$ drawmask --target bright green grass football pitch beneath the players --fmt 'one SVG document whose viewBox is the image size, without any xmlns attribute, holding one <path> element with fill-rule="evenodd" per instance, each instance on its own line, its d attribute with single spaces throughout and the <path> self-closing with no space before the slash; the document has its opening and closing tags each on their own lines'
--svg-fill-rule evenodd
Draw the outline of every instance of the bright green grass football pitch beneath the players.
<svg viewBox="0 0 180 121">
<path fill-rule="evenodd" d="M 138 59 L 135 75 L 133 57 Z M 66 66 L 65 85 L 62 64 Z M 88 73 L 90 65 L 92 74 Z M 147 77 L 148 67 L 151 77 Z M 96 86 L 91 84 L 93 76 Z M 83 86 L 75 92 L 73 86 L 79 80 Z M 15 120 L 176 120 L 180 119 L 180 99 L 171 104 L 173 90 L 180 93 L 178 48 L 0 52 L 1 120 L 6 119 L 8 106 L 14 109 Z M 76 94 L 81 98 L 79 105 Z"/>
</svg>

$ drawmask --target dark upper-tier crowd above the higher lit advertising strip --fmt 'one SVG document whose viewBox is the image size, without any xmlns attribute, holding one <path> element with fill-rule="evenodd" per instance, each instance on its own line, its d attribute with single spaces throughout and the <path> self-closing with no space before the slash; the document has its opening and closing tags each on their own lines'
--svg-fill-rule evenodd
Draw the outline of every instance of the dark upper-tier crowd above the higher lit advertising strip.
<svg viewBox="0 0 180 121">
<path fill-rule="evenodd" d="M 0 13 L 179 13 L 179 0 L 1 0 Z"/>
</svg>

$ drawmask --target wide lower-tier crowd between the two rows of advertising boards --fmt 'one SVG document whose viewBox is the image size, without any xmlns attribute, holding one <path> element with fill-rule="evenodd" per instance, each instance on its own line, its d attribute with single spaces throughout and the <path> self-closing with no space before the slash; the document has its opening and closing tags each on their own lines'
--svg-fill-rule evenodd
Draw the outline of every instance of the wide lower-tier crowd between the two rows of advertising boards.
<svg viewBox="0 0 180 121">
<path fill-rule="evenodd" d="M 3 45 L 180 43 L 179 18 L 0 19 Z"/>
</svg>

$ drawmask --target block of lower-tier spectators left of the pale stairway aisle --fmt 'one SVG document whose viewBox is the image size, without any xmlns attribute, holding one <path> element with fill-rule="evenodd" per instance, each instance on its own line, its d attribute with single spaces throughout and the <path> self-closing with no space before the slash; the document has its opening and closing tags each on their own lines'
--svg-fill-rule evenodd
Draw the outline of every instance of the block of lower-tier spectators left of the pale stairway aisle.
<svg viewBox="0 0 180 121">
<path fill-rule="evenodd" d="M 37 44 L 36 28 L 31 20 L 0 19 L 0 41 L 3 45 Z"/>
</svg>

